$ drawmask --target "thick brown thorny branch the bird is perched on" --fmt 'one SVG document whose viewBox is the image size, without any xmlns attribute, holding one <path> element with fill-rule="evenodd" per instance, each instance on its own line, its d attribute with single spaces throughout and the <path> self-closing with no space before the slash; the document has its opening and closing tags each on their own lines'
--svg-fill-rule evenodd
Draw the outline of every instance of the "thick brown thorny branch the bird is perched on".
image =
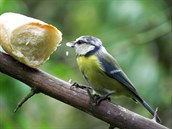
<svg viewBox="0 0 172 129">
<path fill-rule="evenodd" d="M 87 92 L 70 88 L 71 84 L 55 78 L 38 69 L 27 67 L 0 52 L 0 72 L 26 83 L 39 92 L 69 104 L 81 111 L 121 129 L 167 129 L 167 127 L 142 117 L 121 106 L 103 101 L 99 106 L 90 107 Z"/>
</svg>

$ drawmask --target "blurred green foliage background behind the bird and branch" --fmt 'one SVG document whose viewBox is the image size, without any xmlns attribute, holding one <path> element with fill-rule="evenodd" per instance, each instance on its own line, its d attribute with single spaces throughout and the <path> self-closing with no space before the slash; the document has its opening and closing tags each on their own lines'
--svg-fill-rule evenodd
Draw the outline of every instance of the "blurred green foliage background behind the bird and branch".
<svg viewBox="0 0 172 129">
<path fill-rule="evenodd" d="M 140 95 L 154 109 L 159 108 L 162 124 L 172 127 L 171 6 L 171 0 L 0 0 L 0 14 L 21 13 L 62 31 L 62 45 L 39 69 L 65 81 L 87 84 L 78 70 L 74 50 L 67 48 L 66 42 L 81 35 L 100 38 Z M 109 126 L 43 94 L 35 95 L 13 113 L 17 103 L 30 91 L 24 85 L 0 73 L 0 129 L 107 129 Z M 152 117 L 128 98 L 114 98 L 113 102 Z"/>
</svg>

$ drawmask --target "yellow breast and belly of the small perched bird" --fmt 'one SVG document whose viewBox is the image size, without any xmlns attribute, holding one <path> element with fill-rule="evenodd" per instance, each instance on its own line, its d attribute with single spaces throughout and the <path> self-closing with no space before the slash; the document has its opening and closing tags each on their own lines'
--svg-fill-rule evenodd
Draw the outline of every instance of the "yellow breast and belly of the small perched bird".
<svg viewBox="0 0 172 129">
<path fill-rule="evenodd" d="M 120 95 L 125 91 L 118 81 L 103 72 L 96 56 L 79 56 L 77 63 L 81 72 L 88 78 L 91 86 L 100 94 L 106 94 L 108 90 L 113 90 L 116 91 L 116 95 Z"/>
</svg>

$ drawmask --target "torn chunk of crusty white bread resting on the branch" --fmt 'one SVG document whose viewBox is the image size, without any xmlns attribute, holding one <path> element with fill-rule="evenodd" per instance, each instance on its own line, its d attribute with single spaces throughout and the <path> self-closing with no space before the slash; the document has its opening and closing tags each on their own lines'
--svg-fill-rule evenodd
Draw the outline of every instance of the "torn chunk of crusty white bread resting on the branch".
<svg viewBox="0 0 172 129">
<path fill-rule="evenodd" d="M 62 33 L 43 21 L 10 12 L 0 15 L 0 45 L 27 66 L 43 64 L 61 40 Z"/>
</svg>

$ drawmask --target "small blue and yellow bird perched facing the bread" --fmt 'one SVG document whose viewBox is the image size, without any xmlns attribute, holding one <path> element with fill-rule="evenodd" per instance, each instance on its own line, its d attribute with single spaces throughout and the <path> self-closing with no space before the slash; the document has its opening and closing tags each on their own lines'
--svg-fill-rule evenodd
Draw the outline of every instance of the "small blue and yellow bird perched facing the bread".
<svg viewBox="0 0 172 129">
<path fill-rule="evenodd" d="M 97 93 L 106 97 L 111 94 L 130 97 L 140 102 L 152 115 L 155 114 L 139 96 L 117 61 L 102 46 L 100 39 L 81 36 L 66 45 L 75 48 L 79 69 Z"/>
</svg>

